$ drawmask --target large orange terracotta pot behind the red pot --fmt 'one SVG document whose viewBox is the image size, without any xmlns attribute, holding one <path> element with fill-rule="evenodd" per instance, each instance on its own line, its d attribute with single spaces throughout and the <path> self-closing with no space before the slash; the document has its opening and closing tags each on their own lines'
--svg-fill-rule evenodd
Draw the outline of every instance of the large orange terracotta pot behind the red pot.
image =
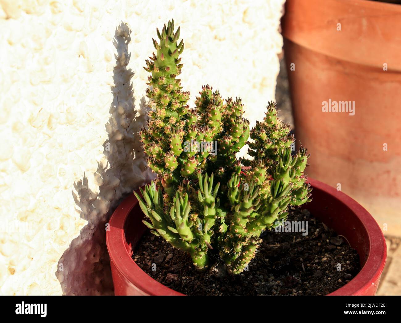
<svg viewBox="0 0 401 323">
<path fill-rule="evenodd" d="M 287 0 L 285 10 L 284 54 L 296 138 L 311 153 L 308 175 L 340 184 L 383 230 L 400 235 L 401 5 Z M 355 114 L 322 112 L 329 100 L 354 101 Z"/>
</svg>

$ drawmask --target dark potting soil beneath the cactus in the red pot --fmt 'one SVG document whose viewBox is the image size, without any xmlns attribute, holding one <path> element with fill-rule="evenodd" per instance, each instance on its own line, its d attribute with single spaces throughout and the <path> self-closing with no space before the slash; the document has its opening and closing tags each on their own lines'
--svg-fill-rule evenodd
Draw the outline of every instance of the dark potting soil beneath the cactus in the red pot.
<svg viewBox="0 0 401 323">
<path fill-rule="evenodd" d="M 150 232 L 132 259 L 152 278 L 186 295 L 326 295 L 360 271 L 358 253 L 308 210 L 291 211 L 288 219 L 308 221 L 308 235 L 267 231 L 255 259 L 239 275 L 218 263 L 200 273 L 188 254 Z"/>
</svg>

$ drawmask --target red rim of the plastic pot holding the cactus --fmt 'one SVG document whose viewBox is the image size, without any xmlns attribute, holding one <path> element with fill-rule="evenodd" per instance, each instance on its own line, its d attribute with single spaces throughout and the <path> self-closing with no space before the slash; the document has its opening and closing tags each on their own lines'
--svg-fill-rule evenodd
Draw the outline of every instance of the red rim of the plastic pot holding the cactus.
<svg viewBox="0 0 401 323">
<path fill-rule="evenodd" d="M 308 183 L 310 183 L 312 187 L 316 187 L 334 196 L 338 201 L 347 205 L 367 231 L 369 237 L 369 255 L 365 265 L 351 281 L 328 294 L 358 295 L 363 290 L 367 289 L 370 284 L 373 284 L 372 282 L 377 281 L 383 272 L 387 258 L 387 248 L 383 232 L 369 212 L 348 195 L 314 179 L 308 179 Z M 106 231 L 106 244 L 111 261 L 128 281 L 149 295 L 184 295 L 150 277 L 140 269 L 128 253 L 124 235 L 124 223 L 130 211 L 137 204 L 138 200 L 134 194 L 129 195 L 119 207 L 117 207 L 110 218 L 110 230 Z"/>
</svg>

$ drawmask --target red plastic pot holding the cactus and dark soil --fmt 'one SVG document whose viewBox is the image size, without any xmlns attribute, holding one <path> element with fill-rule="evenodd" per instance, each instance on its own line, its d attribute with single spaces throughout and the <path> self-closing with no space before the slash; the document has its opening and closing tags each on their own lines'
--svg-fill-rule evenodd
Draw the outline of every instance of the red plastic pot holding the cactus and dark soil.
<svg viewBox="0 0 401 323">
<path fill-rule="evenodd" d="M 313 200 L 306 208 L 328 227 L 346 237 L 358 251 L 361 271 L 329 295 L 375 295 L 386 262 L 383 233 L 375 219 L 356 201 L 336 189 L 309 179 Z M 115 210 L 106 233 L 115 295 L 182 295 L 148 276 L 132 260 L 133 249 L 148 230 L 134 195 Z"/>
</svg>

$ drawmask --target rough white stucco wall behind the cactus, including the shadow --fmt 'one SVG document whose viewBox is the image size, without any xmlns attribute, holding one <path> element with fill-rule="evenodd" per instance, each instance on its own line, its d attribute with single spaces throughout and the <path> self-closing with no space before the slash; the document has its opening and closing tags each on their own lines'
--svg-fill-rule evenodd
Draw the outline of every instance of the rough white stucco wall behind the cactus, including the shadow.
<svg viewBox="0 0 401 323">
<path fill-rule="evenodd" d="M 156 26 L 181 26 L 190 104 L 209 83 L 252 125 L 283 2 L 0 0 L 0 294 L 112 293 L 105 224 L 150 176 L 136 132 Z"/>
</svg>

